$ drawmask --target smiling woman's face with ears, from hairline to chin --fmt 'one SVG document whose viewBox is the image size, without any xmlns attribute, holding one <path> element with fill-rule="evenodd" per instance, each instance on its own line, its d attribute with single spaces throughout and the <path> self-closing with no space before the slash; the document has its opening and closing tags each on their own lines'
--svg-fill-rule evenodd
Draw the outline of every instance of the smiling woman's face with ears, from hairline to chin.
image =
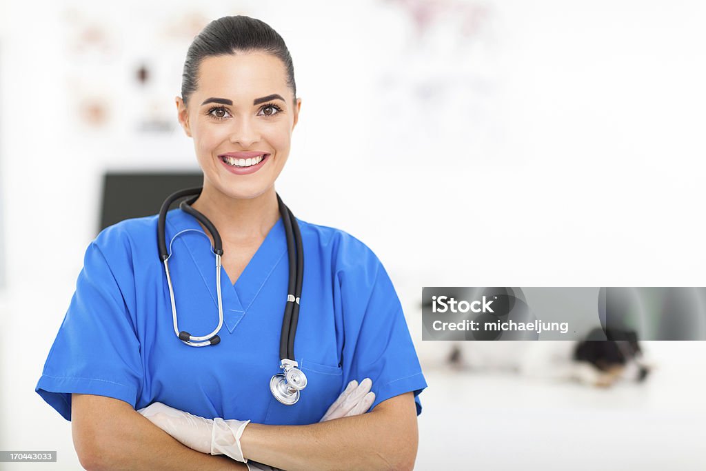
<svg viewBox="0 0 706 471">
<path fill-rule="evenodd" d="M 177 97 L 177 109 L 204 184 L 231 198 L 260 196 L 287 162 L 301 107 L 287 86 L 285 65 L 262 52 L 207 57 L 197 83 L 188 107 Z M 235 160 L 227 162 L 226 153 Z"/>
</svg>

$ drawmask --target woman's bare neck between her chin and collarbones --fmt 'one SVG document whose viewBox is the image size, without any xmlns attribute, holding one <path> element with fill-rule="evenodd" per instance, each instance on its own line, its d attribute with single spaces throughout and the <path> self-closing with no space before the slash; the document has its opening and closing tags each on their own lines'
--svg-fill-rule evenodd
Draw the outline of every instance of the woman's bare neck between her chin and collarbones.
<svg viewBox="0 0 706 471">
<path fill-rule="evenodd" d="M 274 186 L 255 198 L 230 198 L 205 185 L 191 206 L 213 222 L 224 244 L 262 241 L 280 218 Z"/>
</svg>

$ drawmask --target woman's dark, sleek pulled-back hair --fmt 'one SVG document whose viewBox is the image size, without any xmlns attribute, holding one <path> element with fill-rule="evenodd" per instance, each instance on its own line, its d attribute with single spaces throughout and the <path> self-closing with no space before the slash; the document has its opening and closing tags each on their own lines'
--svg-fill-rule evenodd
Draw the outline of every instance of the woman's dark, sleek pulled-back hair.
<svg viewBox="0 0 706 471">
<path fill-rule="evenodd" d="M 198 68 L 210 56 L 225 56 L 237 52 L 265 52 L 278 57 L 287 71 L 287 85 L 297 98 L 294 65 L 282 37 L 267 23 L 249 16 L 224 16 L 206 25 L 193 39 L 186 52 L 184 73 L 181 74 L 181 99 L 184 103 L 198 85 Z"/>
</svg>

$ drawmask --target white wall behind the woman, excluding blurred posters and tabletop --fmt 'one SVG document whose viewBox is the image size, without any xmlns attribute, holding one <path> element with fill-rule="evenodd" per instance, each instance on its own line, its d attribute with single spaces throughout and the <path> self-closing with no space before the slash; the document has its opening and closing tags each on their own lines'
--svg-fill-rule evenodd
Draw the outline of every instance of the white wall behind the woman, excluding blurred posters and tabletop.
<svg viewBox="0 0 706 471">
<path fill-rule="evenodd" d="M 73 452 L 33 390 L 102 172 L 198 168 L 180 129 L 131 128 L 137 59 L 160 64 L 146 93 L 174 107 L 188 43 L 155 29 L 185 11 L 249 14 L 285 38 L 303 105 L 277 189 L 298 217 L 371 246 L 405 304 L 425 285 L 706 285 L 702 3 L 429 1 L 421 36 L 416 3 L 0 4 L 0 448 Z M 69 8 L 100 22 L 113 59 L 66 60 Z M 105 131 L 76 121 L 89 92 L 112 106 Z"/>
</svg>

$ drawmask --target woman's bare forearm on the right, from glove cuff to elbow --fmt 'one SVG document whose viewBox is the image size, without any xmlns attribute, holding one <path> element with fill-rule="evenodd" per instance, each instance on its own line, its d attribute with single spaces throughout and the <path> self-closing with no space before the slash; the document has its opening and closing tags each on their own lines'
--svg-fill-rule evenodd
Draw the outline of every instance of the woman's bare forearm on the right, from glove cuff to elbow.
<svg viewBox="0 0 706 471">
<path fill-rule="evenodd" d="M 367 414 L 318 424 L 251 422 L 240 444 L 245 458 L 289 471 L 412 470 L 418 440 L 417 406 L 409 392 Z"/>
</svg>

